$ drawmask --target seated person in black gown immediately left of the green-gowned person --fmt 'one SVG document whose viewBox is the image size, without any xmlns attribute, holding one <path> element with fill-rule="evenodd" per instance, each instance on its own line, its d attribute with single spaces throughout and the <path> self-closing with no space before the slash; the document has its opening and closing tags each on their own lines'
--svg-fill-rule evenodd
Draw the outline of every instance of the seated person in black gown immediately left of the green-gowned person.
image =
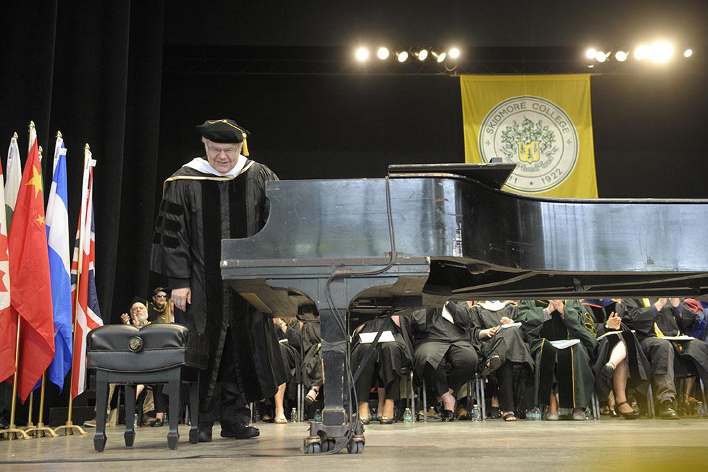
<svg viewBox="0 0 708 472">
<path fill-rule="evenodd" d="M 472 342 L 479 344 L 484 355 L 483 376 L 498 381 L 501 415 L 505 421 L 515 421 L 515 399 L 525 384 L 534 361 L 521 327 L 501 329 L 517 318 L 516 305 L 511 300 L 484 301 L 472 306 Z"/>
</svg>

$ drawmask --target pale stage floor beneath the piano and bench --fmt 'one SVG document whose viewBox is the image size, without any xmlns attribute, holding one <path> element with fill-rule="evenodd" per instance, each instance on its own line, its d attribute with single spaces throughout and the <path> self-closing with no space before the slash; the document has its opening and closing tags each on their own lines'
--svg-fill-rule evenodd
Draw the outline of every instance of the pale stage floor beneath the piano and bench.
<svg viewBox="0 0 708 472">
<path fill-rule="evenodd" d="M 167 428 L 137 428 L 135 446 L 123 428 L 109 427 L 105 452 L 83 437 L 0 442 L 0 470 L 71 471 L 702 471 L 708 469 L 708 420 L 603 419 L 586 422 L 418 422 L 370 425 L 362 454 L 309 456 L 299 451 L 304 423 L 258 423 L 261 437 L 167 449 Z"/>
</svg>

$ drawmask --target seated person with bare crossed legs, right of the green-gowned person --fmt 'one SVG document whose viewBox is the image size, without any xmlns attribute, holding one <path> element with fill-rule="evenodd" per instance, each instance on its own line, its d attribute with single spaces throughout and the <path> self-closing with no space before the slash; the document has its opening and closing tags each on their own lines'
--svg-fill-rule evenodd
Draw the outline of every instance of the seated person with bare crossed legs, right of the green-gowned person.
<svg viewBox="0 0 708 472">
<path fill-rule="evenodd" d="M 583 300 L 583 307 L 595 315 L 595 335 L 598 338 L 598 357 L 595 359 L 595 393 L 607 399 L 610 408 L 627 420 L 639 418 L 627 402 L 627 387 L 646 390 L 649 378 L 649 360 L 639 346 L 639 340 L 622 318 L 615 313 L 616 300 Z"/>
</svg>

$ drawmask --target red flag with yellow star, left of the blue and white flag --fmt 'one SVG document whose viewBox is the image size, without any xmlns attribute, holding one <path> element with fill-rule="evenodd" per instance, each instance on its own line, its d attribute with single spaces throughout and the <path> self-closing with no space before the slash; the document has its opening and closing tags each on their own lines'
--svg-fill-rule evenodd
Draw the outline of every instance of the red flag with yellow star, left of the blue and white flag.
<svg viewBox="0 0 708 472">
<path fill-rule="evenodd" d="M 42 172 L 35 139 L 25 163 L 9 235 L 13 313 L 19 313 L 18 394 L 24 402 L 54 356 L 52 286 Z"/>
</svg>

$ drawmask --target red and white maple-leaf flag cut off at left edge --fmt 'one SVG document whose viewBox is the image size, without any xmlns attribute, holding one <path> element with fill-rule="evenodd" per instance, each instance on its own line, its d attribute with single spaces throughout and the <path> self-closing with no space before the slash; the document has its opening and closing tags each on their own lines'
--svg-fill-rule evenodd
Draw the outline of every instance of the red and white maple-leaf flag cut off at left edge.
<svg viewBox="0 0 708 472">
<path fill-rule="evenodd" d="M 0 188 L 4 187 L 0 164 Z M 17 317 L 10 308 L 10 259 L 7 252 L 7 223 L 5 195 L 0 191 L 0 381 L 15 373 L 15 345 L 17 344 Z"/>
</svg>

